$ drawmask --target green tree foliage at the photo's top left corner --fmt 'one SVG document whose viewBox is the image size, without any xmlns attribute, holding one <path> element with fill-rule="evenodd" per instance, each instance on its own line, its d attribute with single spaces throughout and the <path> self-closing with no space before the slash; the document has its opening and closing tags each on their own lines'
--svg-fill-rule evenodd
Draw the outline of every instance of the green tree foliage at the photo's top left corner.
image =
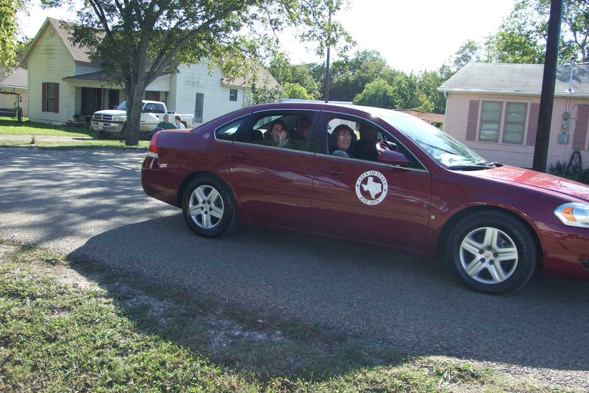
<svg viewBox="0 0 589 393">
<path fill-rule="evenodd" d="M 11 72 L 19 63 L 16 13 L 24 8 L 24 1 L 0 0 L 0 68 L 4 68 L 6 72 Z"/>
</svg>

